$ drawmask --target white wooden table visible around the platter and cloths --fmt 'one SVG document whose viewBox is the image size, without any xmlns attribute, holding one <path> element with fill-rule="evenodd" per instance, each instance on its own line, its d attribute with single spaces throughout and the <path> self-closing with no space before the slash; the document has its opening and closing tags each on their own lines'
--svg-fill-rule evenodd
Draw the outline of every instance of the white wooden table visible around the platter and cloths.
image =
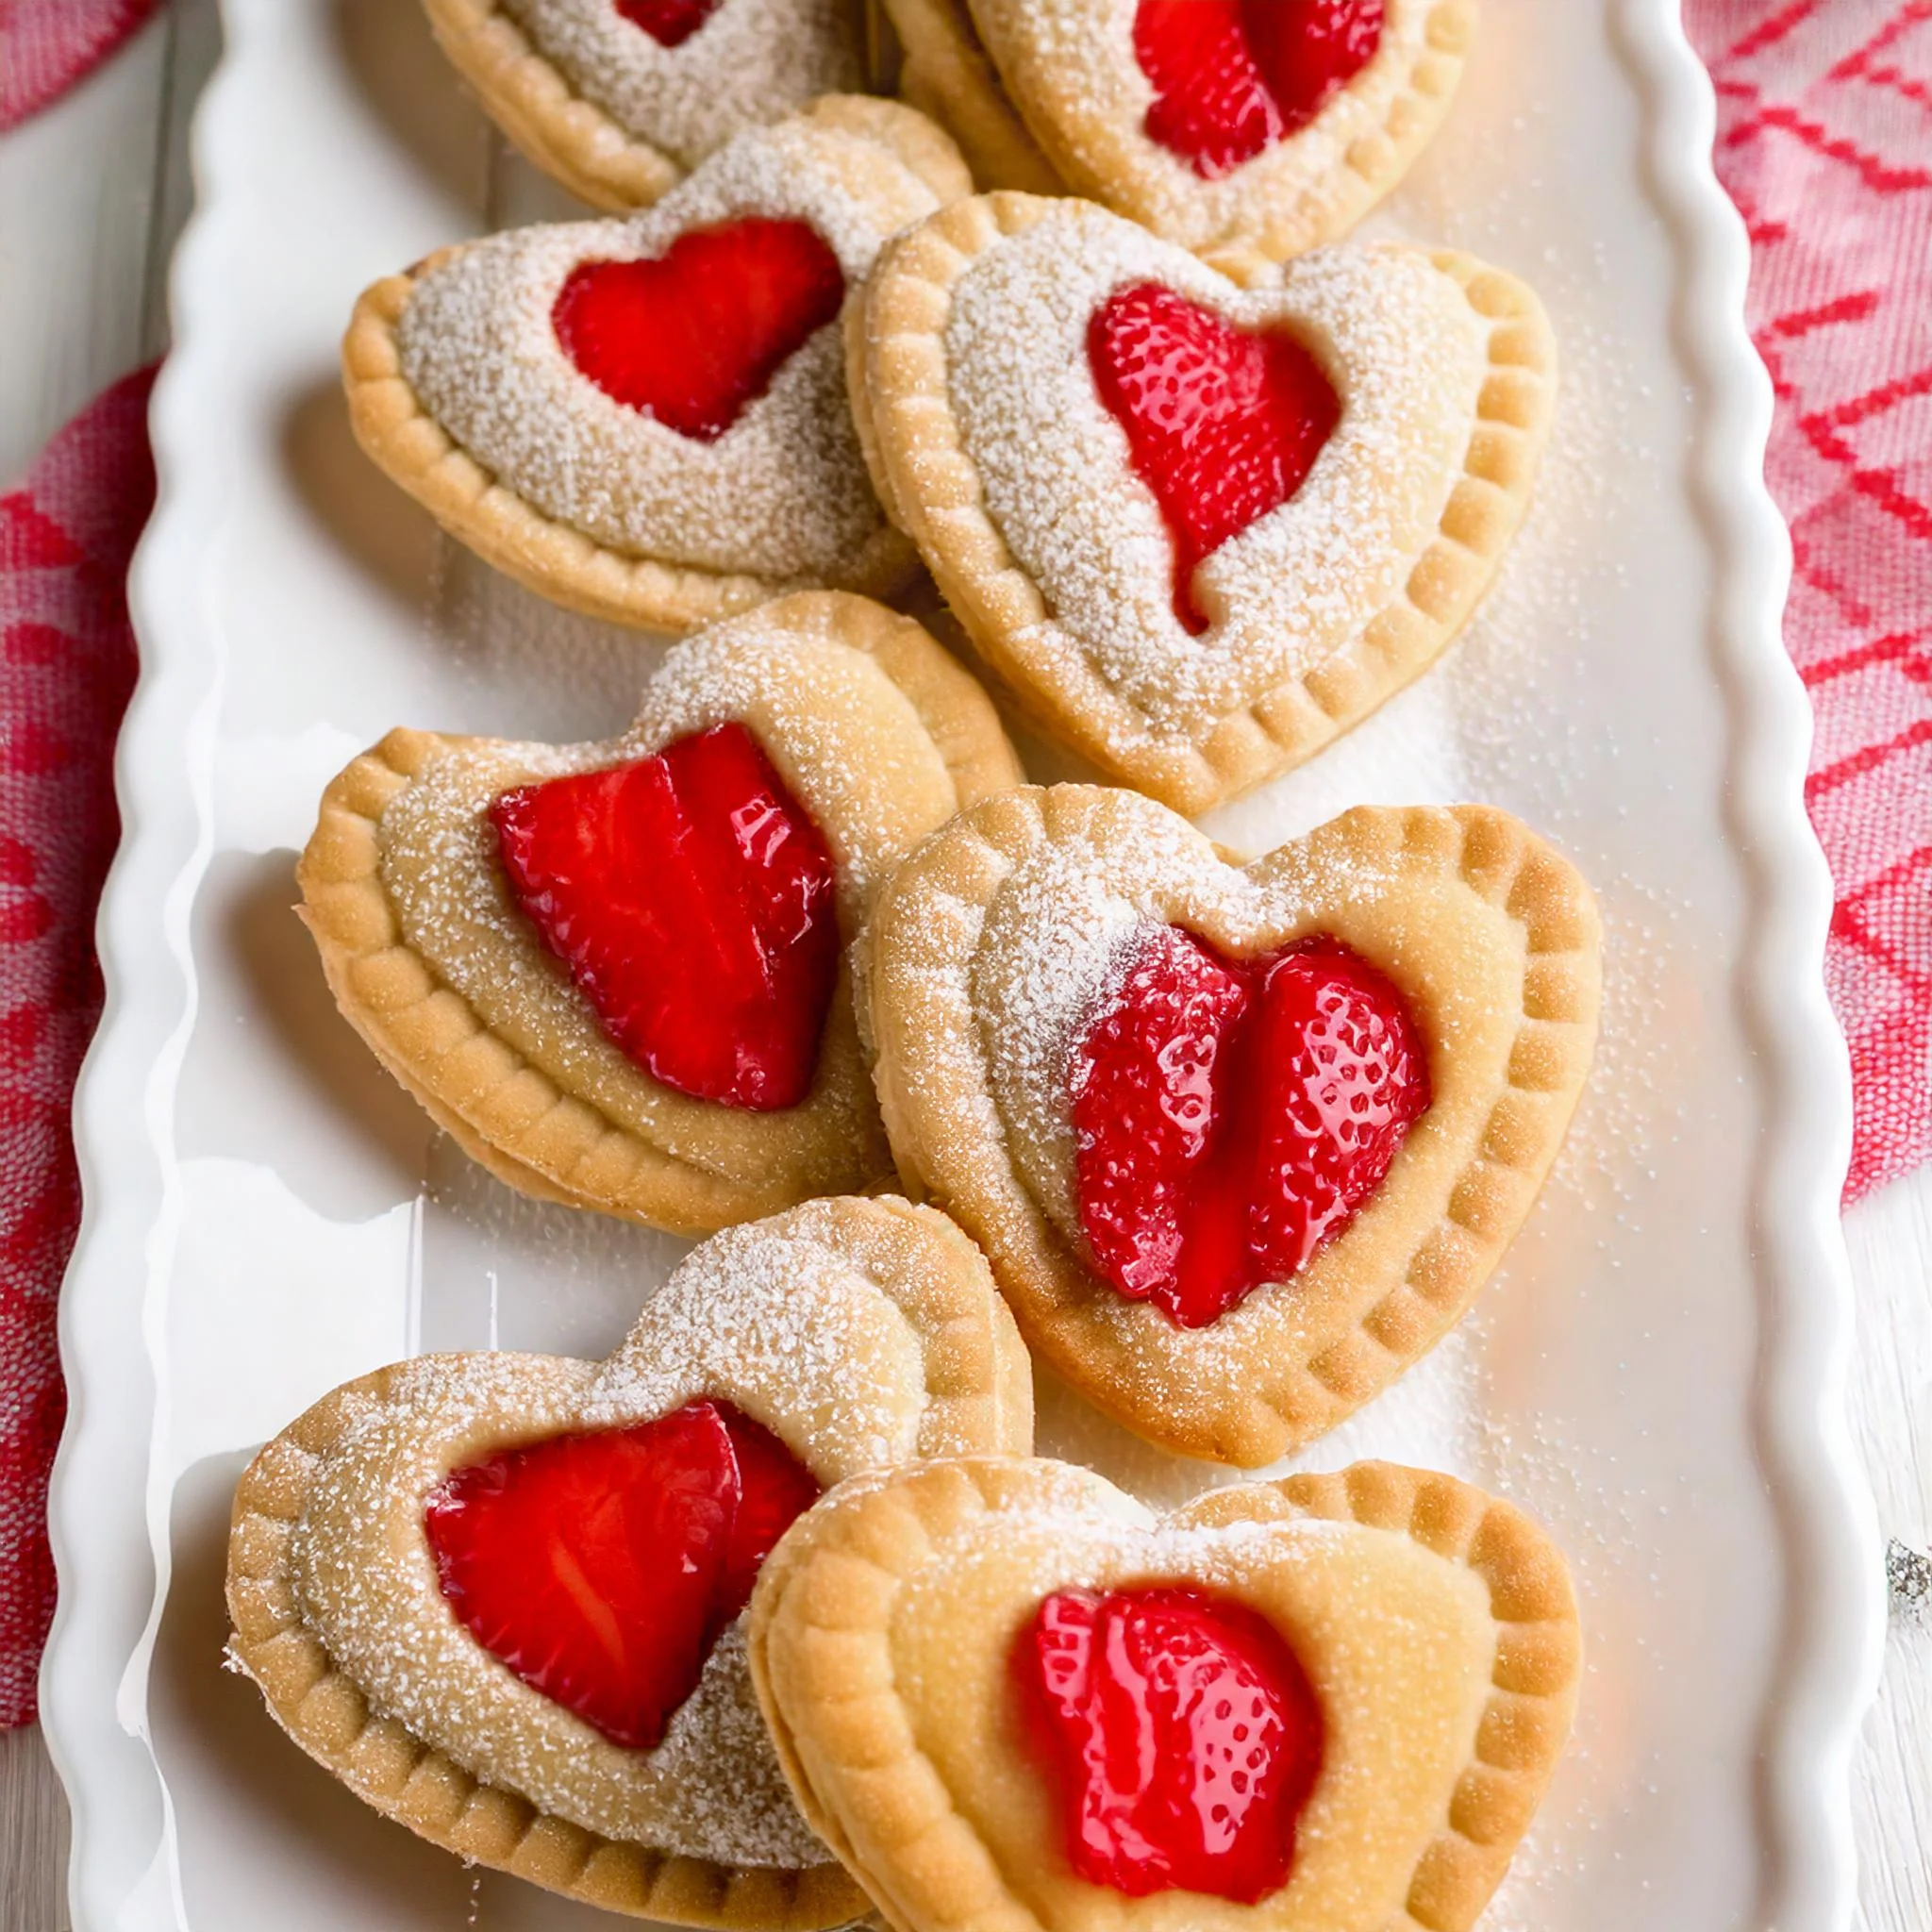
<svg viewBox="0 0 1932 1932">
<path fill-rule="evenodd" d="M 0 491 L 164 344 L 162 278 L 189 203 L 185 131 L 216 50 L 214 0 L 172 0 L 66 100 L 0 135 Z M 1845 1231 L 1861 1321 L 1853 1424 L 1886 1534 L 1924 1548 L 1932 1167 L 1862 1202 Z M 1932 1932 L 1932 1609 L 1893 1617 L 1855 1803 L 1864 1932 Z M 0 1932 L 66 1932 L 64 1866 L 60 1785 L 41 1737 L 0 1735 Z"/>
</svg>

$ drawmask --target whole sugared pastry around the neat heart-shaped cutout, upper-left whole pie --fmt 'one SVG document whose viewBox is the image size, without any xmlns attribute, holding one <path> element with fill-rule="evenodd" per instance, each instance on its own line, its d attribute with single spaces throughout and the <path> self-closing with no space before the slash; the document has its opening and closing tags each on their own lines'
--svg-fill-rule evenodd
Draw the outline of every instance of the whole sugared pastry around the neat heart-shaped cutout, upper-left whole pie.
<svg viewBox="0 0 1932 1932">
<path fill-rule="evenodd" d="M 599 388 L 553 311 L 585 263 L 651 261 L 748 216 L 808 222 L 850 296 L 887 236 L 968 187 L 922 114 L 831 97 L 738 135 L 628 222 L 444 249 L 355 305 L 342 344 L 355 437 L 479 556 L 591 616 L 680 632 L 786 589 L 887 595 L 918 560 L 867 483 L 837 328 L 703 440 Z"/>
</svg>

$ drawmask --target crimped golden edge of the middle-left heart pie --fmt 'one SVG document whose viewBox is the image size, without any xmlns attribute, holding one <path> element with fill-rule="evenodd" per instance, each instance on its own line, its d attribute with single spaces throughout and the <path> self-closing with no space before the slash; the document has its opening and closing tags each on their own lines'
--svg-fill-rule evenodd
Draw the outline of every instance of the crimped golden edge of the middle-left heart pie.
<svg viewBox="0 0 1932 1932">
<path fill-rule="evenodd" d="M 945 759 L 960 806 L 1020 781 L 1018 759 L 985 694 L 912 618 L 846 591 L 798 591 L 765 614 L 802 636 L 835 638 L 879 661 Z M 750 1179 L 701 1167 L 560 1088 L 497 1037 L 404 941 L 383 885 L 379 821 L 425 763 L 462 742 L 392 730 L 323 794 L 296 879 L 301 918 L 344 1018 L 466 1153 L 539 1200 L 676 1235 L 705 1235 L 792 1206 L 800 1194 L 782 1175 Z M 848 949 L 835 997 L 850 987 L 850 970 Z M 489 1061 L 487 1080 L 458 1080 L 448 1070 L 466 1053 Z M 867 1146 L 856 1150 L 848 1190 L 883 1186 L 889 1167 L 883 1130 L 871 1126 Z"/>
</svg>

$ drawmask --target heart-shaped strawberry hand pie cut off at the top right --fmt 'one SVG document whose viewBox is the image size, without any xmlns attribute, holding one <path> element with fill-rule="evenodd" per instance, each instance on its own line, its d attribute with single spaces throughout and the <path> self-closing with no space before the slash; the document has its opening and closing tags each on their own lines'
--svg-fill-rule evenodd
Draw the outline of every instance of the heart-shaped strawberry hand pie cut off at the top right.
<svg viewBox="0 0 1932 1932">
<path fill-rule="evenodd" d="M 1273 261 L 1401 182 L 1476 31 L 1474 0 L 972 0 L 972 17 L 1076 195 Z"/>
</svg>

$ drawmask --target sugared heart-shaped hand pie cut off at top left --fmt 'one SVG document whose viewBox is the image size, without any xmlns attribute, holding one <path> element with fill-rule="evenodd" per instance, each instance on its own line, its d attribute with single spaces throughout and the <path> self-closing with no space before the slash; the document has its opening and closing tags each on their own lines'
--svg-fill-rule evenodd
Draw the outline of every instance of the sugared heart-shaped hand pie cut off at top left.
<svg viewBox="0 0 1932 1932">
<path fill-rule="evenodd" d="M 744 128 L 866 83 L 844 0 L 423 0 L 502 131 L 597 209 L 641 209 Z"/>
</svg>

